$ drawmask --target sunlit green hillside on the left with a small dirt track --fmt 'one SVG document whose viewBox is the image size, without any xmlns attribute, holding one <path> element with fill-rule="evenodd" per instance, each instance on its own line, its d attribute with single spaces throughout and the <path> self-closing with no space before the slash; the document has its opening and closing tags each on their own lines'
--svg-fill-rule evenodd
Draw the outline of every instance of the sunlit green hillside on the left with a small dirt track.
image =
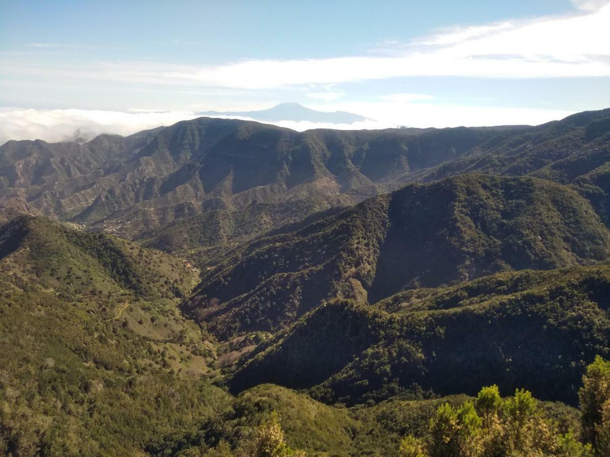
<svg viewBox="0 0 610 457">
<path fill-rule="evenodd" d="M 184 261 L 43 218 L 0 228 L 0 453 L 134 455 L 210 416 Z"/>
</svg>

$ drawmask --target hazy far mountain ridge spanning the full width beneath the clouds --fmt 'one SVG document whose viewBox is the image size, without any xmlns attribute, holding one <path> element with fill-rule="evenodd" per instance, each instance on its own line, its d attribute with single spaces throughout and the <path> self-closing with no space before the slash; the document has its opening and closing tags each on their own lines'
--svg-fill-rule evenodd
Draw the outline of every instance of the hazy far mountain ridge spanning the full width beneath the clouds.
<svg viewBox="0 0 610 457">
<path fill-rule="evenodd" d="M 0 205 L 18 198 L 41 214 L 205 254 L 412 181 L 479 171 L 571 182 L 608 159 L 609 113 L 536 127 L 306 132 L 199 118 L 82 146 L 9 141 Z"/>
</svg>

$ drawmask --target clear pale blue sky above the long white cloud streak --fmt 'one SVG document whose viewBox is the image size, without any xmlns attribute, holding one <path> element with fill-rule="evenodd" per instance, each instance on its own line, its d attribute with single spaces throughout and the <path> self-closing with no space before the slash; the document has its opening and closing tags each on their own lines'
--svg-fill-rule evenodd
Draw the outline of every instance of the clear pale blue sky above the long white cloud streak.
<svg viewBox="0 0 610 457">
<path fill-rule="evenodd" d="M 0 3 L 0 46 L 95 47 L 104 58 L 227 63 L 241 58 L 360 55 L 382 40 L 573 10 L 567 0 L 16 1 Z"/>
</svg>

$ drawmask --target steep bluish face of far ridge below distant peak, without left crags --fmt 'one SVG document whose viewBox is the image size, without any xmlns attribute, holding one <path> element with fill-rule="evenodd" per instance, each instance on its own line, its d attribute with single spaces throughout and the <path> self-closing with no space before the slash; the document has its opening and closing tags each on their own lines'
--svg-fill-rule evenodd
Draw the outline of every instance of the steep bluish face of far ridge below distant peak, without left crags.
<svg viewBox="0 0 610 457">
<path fill-rule="evenodd" d="M 410 169 L 436 165 L 493 134 L 454 129 L 418 138 L 403 130 L 299 133 L 231 119 L 180 122 L 163 130 L 134 162 L 150 164 L 122 172 L 125 178 L 100 190 L 74 220 L 127 236 L 179 239 L 174 221 L 205 230 L 209 211 L 232 213 L 254 205 L 253 218 L 240 222 L 237 232 L 256 235 L 378 194 Z M 168 157 L 176 160 L 157 167 Z M 237 235 L 234 241 L 243 239 Z M 196 247 L 187 244 L 184 250 Z"/>
</svg>

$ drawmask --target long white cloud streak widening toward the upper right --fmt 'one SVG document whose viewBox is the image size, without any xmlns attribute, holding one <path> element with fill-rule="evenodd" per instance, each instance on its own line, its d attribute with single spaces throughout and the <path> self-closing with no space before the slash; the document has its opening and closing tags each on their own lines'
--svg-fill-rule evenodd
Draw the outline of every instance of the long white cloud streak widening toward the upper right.
<svg viewBox="0 0 610 457">
<path fill-rule="evenodd" d="M 578 13 L 444 30 L 400 55 L 246 60 L 220 66 L 166 62 L 5 62 L 2 73 L 149 85 L 270 89 L 406 76 L 539 78 L 610 76 L 608 0 L 575 0 Z M 52 62 L 52 61 L 49 61 Z M 314 92 L 314 97 L 332 96 Z"/>
</svg>

